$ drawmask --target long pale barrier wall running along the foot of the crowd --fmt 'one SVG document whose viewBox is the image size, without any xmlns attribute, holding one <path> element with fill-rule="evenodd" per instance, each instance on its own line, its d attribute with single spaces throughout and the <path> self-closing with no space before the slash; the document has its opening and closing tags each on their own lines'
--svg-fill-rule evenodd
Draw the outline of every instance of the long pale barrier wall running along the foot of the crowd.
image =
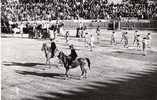
<svg viewBox="0 0 157 100">
<path fill-rule="evenodd" d="M 30 21 L 29 23 L 51 23 L 53 21 Z M 154 30 L 157 31 L 157 20 L 61 20 L 64 23 L 64 29 L 76 29 L 80 26 L 80 23 L 86 25 L 87 28 L 96 28 L 100 26 L 104 29 L 137 29 L 137 30 Z M 17 23 L 17 22 L 15 22 Z M 21 23 L 21 22 L 19 22 Z M 28 23 L 27 21 L 23 23 Z M 1 27 L 2 28 L 2 27 Z"/>
</svg>

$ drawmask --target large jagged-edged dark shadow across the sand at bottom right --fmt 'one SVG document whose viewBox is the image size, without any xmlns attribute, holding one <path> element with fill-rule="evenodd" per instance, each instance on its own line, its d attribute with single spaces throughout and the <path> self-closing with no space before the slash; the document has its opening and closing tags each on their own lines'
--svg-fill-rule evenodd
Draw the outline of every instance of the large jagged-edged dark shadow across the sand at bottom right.
<svg viewBox="0 0 157 100">
<path fill-rule="evenodd" d="M 130 77 L 112 80 L 114 83 L 92 82 L 94 85 L 88 85 L 91 89 L 65 90 L 66 94 L 47 91 L 35 96 L 37 99 L 22 100 L 157 100 L 157 68 L 147 73 L 130 73 Z"/>
</svg>

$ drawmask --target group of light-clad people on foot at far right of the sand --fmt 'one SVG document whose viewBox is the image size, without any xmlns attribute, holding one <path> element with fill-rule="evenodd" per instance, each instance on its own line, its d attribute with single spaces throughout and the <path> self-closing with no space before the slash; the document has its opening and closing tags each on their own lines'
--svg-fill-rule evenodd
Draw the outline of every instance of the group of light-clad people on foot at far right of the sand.
<svg viewBox="0 0 157 100">
<path fill-rule="evenodd" d="M 111 45 L 117 45 L 116 33 L 113 31 L 111 35 Z M 137 30 L 134 32 L 133 36 L 133 46 L 136 46 L 137 49 L 142 49 L 143 55 L 147 54 L 147 48 L 151 48 L 151 33 L 140 34 Z M 123 44 L 123 47 L 128 48 L 129 38 L 128 32 L 123 32 L 121 36 L 120 43 Z"/>
</svg>

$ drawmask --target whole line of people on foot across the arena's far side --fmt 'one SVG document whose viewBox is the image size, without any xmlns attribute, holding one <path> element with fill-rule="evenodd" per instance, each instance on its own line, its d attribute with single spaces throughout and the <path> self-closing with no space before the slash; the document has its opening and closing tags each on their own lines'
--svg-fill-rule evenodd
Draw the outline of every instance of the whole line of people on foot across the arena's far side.
<svg viewBox="0 0 157 100">
<path fill-rule="evenodd" d="M 22 25 L 22 24 L 21 24 Z M 56 21 L 55 24 L 51 25 L 50 27 L 47 27 L 47 24 L 39 24 L 34 26 L 26 25 L 27 26 L 27 33 L 29 33 L 29 38 L 56 38 L 57 35 L 62 35 L 65 37 L 66 43 L 69 42 L 69 37 L 71 36 L 69 31 L 63 30 L 64 24 L 62 22 Z M 45 27 L 44 27 L 45 26 Z M 21 27 L 21 26 L 20 26 Z M 17 32 L 17 29 L 14 28 L 14 32 Z M 23 31 L 21 32 L 23 33 Z M 97 43 L 100 42 L 101 38 L 101 29 L 100 26 L 97 26 L 96 28 L 96 35 L 91 34 L 87 31 L 87 26 L 80 23 L 80 25 L 76 28 L 76 37 L 77 38 L 84 38 L 85 47 L 88 47 L 90 51 L 93 51 L 94 48 L 94 42 L 97 41 Z M 121 40 L 117 41 L 116 39 L 116 31 L 113 31 L 111 34 L 111 45 L 117 45 L 122 44 L 123 47 L 128 48 L 129 44 L 129 37 L 128 32 L 125 31 L 122 33 Z M 139 32 L 136 30 L 134 32 L 133 36 L 133 46 L 136 46 L 137 49 L 142 49 L 143 55 L 147 54 L 147 48 L 151 47 L 151 33 L 148 33 L 147 35 L 143 36 L 142 34 L 139 34 Z"/>
</svg>

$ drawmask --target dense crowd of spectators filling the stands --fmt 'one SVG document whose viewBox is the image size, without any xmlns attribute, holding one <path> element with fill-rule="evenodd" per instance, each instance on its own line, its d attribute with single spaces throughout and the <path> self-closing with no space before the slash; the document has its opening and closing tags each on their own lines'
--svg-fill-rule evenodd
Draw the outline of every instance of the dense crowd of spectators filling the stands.
<svg viewBox="0 0 157 100">
<path fill-rule="evenodd" d="M 55 1 L 55 2 L 54 2 Z M 73 19 L 157 19 L 157 4 L 108 4 L 107 0 L 54 0 L 43 3 L 2 3 L 11 21 Z"/>
</svg>

